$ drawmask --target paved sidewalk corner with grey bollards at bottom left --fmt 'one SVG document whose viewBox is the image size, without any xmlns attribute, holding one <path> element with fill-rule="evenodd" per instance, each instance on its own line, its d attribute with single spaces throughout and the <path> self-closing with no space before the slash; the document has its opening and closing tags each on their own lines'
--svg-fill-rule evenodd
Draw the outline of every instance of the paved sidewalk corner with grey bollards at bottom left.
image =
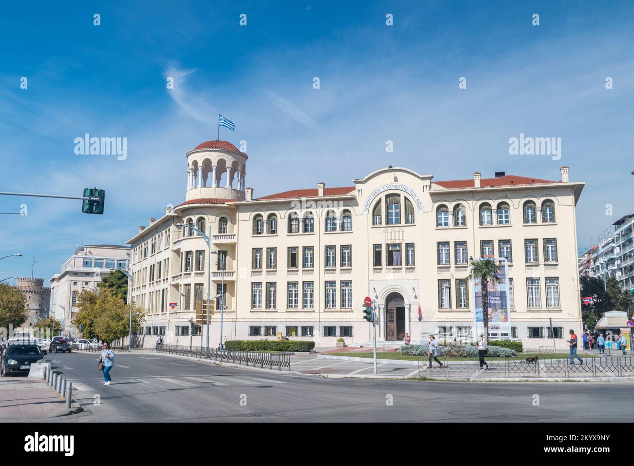
<svg viewBox="0 0 634 466">
<path fill-rule="evenodd" d="M 0 420 L 28 421 L 78 413 L 81 408 L 66 401 L 44 381 L 27 380 L 26 377 L 3 377 L 0 379 Z"/>
</svg>

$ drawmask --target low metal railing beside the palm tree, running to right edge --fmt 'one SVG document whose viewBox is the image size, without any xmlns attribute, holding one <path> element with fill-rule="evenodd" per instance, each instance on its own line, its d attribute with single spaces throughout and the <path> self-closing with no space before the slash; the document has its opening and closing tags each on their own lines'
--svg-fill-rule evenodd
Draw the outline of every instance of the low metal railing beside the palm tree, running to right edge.
<svg viewBox="0 0 634 466">
<path fill-rule="evenodd" d="M 585 358 L 583 364 L 578 360 L 574 365 L 569 359 L 539 359 L 527 362 L 526 359 L 506 358 L 488 359 L 487 370 L 479 369 L 478 358 L 443 358 L 439 357 L 443 367 L 434 361 L 432 368 L 427 368 L 429 357 L 421 356 L 418 360 L 419 377 L 526 377 L 568 378 L 568 377 L 634 377 L 634 358 L 632 356 L 602 356 Z"/>
</svg>

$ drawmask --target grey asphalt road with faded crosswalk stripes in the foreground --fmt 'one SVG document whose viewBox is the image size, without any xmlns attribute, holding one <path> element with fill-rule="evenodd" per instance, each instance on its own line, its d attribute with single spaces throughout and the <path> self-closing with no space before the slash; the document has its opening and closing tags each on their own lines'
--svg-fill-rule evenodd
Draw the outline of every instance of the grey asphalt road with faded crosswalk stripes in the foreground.
<svg viewBox="0 0 634 466">
<path fill-rule="evenodd" d="M 117 354 L 104 386 L 98 357 L 49 354 L 84 407 L 53 422 L 587 422 L 623 419 L 634 395 L 631 382 L 325 379 L 138 353 Z"/>
</svg>

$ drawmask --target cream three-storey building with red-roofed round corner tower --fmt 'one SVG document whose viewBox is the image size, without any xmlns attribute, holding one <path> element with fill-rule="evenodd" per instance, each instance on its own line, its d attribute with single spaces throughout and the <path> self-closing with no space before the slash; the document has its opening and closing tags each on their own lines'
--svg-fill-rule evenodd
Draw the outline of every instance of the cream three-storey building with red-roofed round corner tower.
<svg viewBox="0 0 634 466">
<path fill-rule="evenodd" d="M 231 143 L 207 141 L 186 156 L 184 202 L 168 204 L 127 242 L 133 298 L 150 311 L 145 346 L 159 334 L 165 343 L 205 344 L 206 326 L 190 321 L 209 273 L 211 296 L 224 295 L 224 340 L 281 333 L 316 346 L 363 344 L 372 339 L 366 296 L 377 304 L 385 346 L 406 333 L 413 342 L 429 333 L 469 339 L 472 257 L 508 260 L 508 325 L 493 325 L 493 338 L 561 348 L 570 328 L 581 330 L 575 206 L 584 183 L 569 181 L 568 167 L 556 181 L 503 172 L 435 181 L 386 167 L 350 186 L 256 197 L 245 187 L 247 154 Z M 211 270 L 207 243 L 188 226 L 209 235 Z M 218 311 L 209 334 L 217 347 Z"/>
</svg>

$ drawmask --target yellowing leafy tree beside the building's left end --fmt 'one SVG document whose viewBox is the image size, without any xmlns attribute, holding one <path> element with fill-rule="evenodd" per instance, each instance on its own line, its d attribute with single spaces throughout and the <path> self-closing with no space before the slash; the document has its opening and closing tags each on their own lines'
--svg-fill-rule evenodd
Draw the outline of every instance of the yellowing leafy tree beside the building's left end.
<svg viewBox="0 0 634 466">
<path fill-rule="evenodd" d="M 112 288 L 101 288 L 98 295 L 84 290 L 77 297 L 77 308 L 73 325 L 75 328 L 82 326 L 82 337 L 110 342 L 127 337 L 130 308 Z M 133 304 L 133 332 L 141 328 L 146 313 L 145 309 Z"/>
</svg>

